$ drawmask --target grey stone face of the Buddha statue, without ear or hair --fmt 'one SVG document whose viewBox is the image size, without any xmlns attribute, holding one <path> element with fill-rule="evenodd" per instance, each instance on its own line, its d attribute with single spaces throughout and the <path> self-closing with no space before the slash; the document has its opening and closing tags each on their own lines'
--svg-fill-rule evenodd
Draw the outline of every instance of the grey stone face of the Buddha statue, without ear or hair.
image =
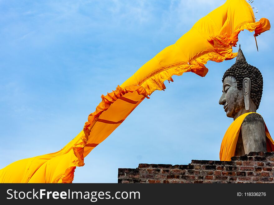
<svg viewBox="0 0 274 205">
<path fill-rule="evenodd" d="M 223 83 L 223 94 L 219 100 L 220 105 L 224 105 L 226 116 L 234 118 L 234 116 L 243 109 L 243 91 L 238 90 L 236 79 L 227 76 Z"/>
</svg>

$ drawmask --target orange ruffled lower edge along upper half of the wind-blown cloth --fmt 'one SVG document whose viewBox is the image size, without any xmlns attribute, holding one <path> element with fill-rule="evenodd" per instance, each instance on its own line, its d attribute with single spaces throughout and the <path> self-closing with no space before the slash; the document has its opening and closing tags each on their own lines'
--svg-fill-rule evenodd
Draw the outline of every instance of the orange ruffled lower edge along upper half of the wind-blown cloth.
<svg viewBox="0 0 274 205">
<path fill-rule="evenodd" d="M 266 18 L 261 18 L 258 22 L 243 22 L 241 25 L 238 25 L 231 36 L 225 33 L 211 36 L 208 41 L 214 49 L 207 49 L 197 53 L 189 59 L 189 62 L 177 62 L 161 67 L 140 79 L 135 85 L 141 85 L 148 95 L 151 95 L 155 90 L 164 90 L 166 88 L 164 81 L 173 82 L 173 75 L 181 76 L 185 72 L 193 72 L 204 77 L 208 72 L 208 69 L 205 67 L 207 61 L 222 62 L 237 56 L 237 53 L 232 52 L 232 46 L 236 46 L 238 35 L 244 29 L 250 32 L 255 31 L 254 36 L 258 36 L 262 32 L 270 30 L 270 22 Z"/>
</svg>

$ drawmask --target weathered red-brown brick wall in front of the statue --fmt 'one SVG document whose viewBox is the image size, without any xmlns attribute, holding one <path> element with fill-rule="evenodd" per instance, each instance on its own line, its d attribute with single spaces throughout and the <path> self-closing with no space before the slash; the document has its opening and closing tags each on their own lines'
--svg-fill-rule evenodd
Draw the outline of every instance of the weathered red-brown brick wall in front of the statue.
<svg viewBox="0 0 274 205">
<path fill-rule="evenodd" d="M 118 183 L 274 183 L 274 152 L 250 152 L 231 159 L 119 168 Z"/>
</svg>

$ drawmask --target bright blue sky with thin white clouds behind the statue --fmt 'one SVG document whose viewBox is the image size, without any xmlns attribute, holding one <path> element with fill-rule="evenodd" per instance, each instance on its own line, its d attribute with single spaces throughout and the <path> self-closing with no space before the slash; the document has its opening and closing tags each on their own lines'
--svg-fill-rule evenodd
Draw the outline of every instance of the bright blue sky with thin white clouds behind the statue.
<svg viewBox="0 0 274 205">
<path fill-rule="evenodd" d="M 101 95 L 173 44 L 222 0 L 0 1 L 0 168 L 58 151 L 82 129 Z M 256 18 L 274 20 L 273 2 L 255 0 Z M 241 32 L 249 64 L 264 89 L 257 111 L 274 133 L 272 29 Z M 234 49 L 236 52 L 238 47 Z M 209 61 L 208 74 L 174 76 L 77 167 L 73 183 L 117 183 L 118 168 L 139 163 L 218 160 L 233 119 L 218 104 L 224 71 L 235 60 Z M 273 135 L 273 134 L 272 134 Z"/>
</svg>

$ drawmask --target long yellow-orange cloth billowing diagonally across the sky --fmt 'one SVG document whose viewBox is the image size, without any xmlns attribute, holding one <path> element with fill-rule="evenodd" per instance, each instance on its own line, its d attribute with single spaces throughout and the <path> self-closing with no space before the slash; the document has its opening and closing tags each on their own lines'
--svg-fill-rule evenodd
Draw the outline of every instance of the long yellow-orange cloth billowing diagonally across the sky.
<svg viewBox="0 0 274 205">
<path fill-rule="evenodd" d="M 88 116 L 83 130 L 58 152 L 16 161 L 0 170 L 0 183 L 71 183 L 76 166 L 106 139 L 155 90 L 165 89 L 172 76 L 193 72 L 205 76 L 207 61 L 234 58 L 232 46 L 243 29 L 258 36 L 270 29 L 266 18 L 255 22 L 245 0 L 227 0 L 195 25 L 175 44 L 145 63 L 116 90 L 102 95 L 102 102 Z"/>
</svg>

